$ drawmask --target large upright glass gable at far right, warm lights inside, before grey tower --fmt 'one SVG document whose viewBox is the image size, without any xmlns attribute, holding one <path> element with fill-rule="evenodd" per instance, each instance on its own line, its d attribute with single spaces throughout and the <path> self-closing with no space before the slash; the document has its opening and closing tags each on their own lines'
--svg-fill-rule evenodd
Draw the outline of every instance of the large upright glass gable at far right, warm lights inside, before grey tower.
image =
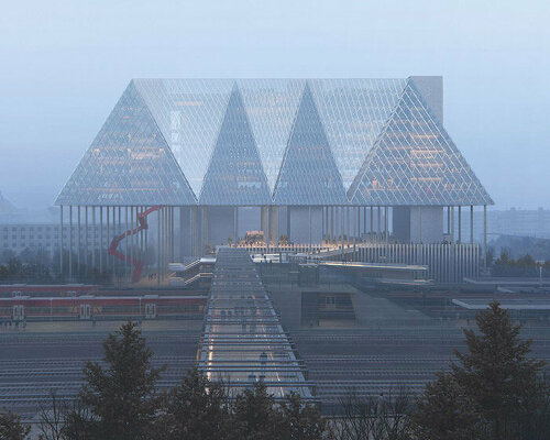
<svg viewBox="0 0 550 440">
<path fill-rule="evenodd" d="M 493 204 L 410 81 L 348 196 L 356 205 Z"/>
</svg>

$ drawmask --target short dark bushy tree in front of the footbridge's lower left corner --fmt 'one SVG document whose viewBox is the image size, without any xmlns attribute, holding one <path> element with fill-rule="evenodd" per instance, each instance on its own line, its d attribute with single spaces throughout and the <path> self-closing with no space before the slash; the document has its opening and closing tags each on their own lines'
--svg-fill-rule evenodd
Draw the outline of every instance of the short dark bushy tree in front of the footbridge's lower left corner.
<svg viewBox="0 0 550 440">
<path fill-rule="evenodd" d="M 165 397 L 157 437 L 165 440 L 228 438 L 229 402 L 223 385 L 191 370 Z"/>
</svg>

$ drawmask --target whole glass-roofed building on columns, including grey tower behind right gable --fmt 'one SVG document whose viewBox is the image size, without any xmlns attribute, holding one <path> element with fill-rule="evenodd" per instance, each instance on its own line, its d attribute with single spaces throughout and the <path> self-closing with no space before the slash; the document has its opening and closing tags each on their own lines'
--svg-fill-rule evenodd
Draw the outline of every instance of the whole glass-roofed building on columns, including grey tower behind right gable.
<svg viewBox="0 0 550 440">
<path fill-rule="evenodd" d="M 133 79 L 56 204 L 111 234 L 161 207 L 182 255 L 252 230 L 439 243 L 493 204 L 442 122 L 441 77 Z"/>
</svg>

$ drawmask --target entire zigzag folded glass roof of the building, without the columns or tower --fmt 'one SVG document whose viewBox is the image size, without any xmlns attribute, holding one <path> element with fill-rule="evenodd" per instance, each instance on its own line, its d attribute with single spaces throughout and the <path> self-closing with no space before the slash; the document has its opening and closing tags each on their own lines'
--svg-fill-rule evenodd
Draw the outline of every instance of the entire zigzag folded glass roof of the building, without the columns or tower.
<svg viewBox="0 0 550 440">
<path fill-rule="evenodd" d="M 56 202 L 493 200 L 410 78 L 135 79 Z"/>
</svg>

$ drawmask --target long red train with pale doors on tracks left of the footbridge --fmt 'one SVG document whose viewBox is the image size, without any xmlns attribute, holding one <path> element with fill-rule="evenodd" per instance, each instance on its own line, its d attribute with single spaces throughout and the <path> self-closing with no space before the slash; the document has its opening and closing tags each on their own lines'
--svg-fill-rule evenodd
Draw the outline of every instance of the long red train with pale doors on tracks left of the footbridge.
<svg viewBox="0 0 550 440">
<path fill-rule="evenodd" d="M 195 296 L 70 296 L 0 298 L 0 321 L 201 319 L 207 297 Z"/>
</svg>

